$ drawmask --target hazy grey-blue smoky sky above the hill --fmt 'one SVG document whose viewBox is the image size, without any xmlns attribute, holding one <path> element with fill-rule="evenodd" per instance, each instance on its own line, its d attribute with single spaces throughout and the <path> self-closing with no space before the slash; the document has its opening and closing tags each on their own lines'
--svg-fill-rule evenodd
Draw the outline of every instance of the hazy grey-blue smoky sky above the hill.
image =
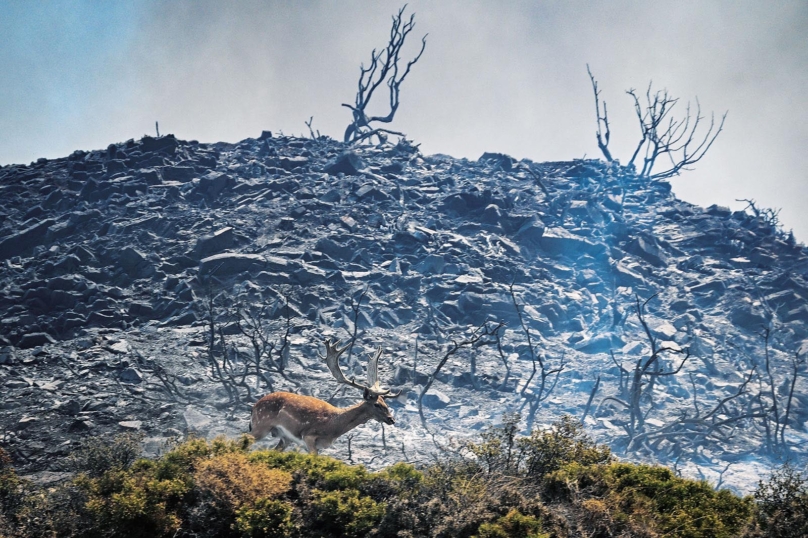
<svg viewBox="0 0 808 538">
<path fill-rule="evenodd" d="M 262 130 L 341 138 L 359 64 L 386 44 L 398 2 L 0 0 L 0 163 L 161 133 L 238 141 Z M 536 161 L 600 157 L 589 63 L 612 152 L 638 127 L 628 88 L 649 81 L 725 130 L 680 198 L 782 208 L 808 241 L 808 2 L 426 1 L 405 54 L 395 129 L 424 153 Z M 379 95 L 383 108 L 385 96 Z"/>
</svg>

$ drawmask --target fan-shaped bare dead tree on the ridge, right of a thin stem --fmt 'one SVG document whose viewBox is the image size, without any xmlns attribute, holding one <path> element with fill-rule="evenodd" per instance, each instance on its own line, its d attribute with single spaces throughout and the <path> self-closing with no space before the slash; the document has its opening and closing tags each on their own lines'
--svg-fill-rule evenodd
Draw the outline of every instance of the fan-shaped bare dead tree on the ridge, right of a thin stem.
<svg viewBox="0 0 808 538">
<path fill-rule="evenodd" d="M 645 104 L 640 103 L 637 92 L 632 88 L 626 91 L 634 100 L 634 112 L 640 123 L 640 141 L 628 162 L 628 166 L 635 166 L 634 161 L 642 153 L 642 168 L 639 176 L 648 179 L 664 179 L 678 176 L 683 170 L 690 170 L 689 166 L 700 161 L 718 138 L 724 128 L 727 112 L 721 116 L 716 127 L 715 114 L 710 113 L 710 125 L 703 137 L 697 136 L 699 126 L 705 119 L 701 115 L 701 105 L 696 99 L 695 115 L 691 112 L 690 103 L 687 103 L 684 117 L 677 119 L 671 112 L 679 102 L 678 98 L 671 97 L 668 90 L 651 92 L 653 83 L 648 84 L 645 92 Z M 670 168 L 654 173 L 657 161 L 668 161 Z"/>
</svg>

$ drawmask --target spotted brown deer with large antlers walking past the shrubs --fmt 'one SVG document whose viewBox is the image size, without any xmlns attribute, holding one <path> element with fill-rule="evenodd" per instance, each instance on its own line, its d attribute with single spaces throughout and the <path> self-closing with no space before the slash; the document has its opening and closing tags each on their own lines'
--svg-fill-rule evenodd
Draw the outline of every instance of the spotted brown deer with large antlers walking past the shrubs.
<svg viewBox="0 0 808 538">
<path fill-rule="evenodd" d="M 382 389 L 379 384 L 378 365 L 382 348 L 379 347 L 371 354 L 367 369 L 368 382 L 367 385 L 362 385 L 343 375 L 339 357 L 351 344 L 343 348 L 339 344 L 339 340 L 325 340 L 326 365 L 338 383 L 361 390 L 362 401 L 341 408 L 319 398 L 291 392 L 267 394 L 252 408 L 250 432 L 256 440 L 271 435 L 280 439 L 275 450 L 283 451 L 288 445 L 296 444 L 305 448 L 309 454 L 317 454 L 330 447 L 337 437 L 369 420 L 390 425 L 396 423 L 384 400 L 398 397 L 401 391 L 391 393 L 390 389 Z"/>
</svg>

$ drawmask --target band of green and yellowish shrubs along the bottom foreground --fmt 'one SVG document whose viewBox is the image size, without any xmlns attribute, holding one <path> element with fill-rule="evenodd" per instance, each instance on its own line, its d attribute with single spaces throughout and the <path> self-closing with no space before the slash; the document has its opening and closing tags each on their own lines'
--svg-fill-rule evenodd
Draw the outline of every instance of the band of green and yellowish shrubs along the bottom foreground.
<svg viewBox="0 0 808 538">
<path fill-rule="evenodd" d="M 20 480 L 0 452 L 0 537 L 806 534 L 808 479 L 791 468 L 761 483 L 757 527 L 749 528 L 751 498 L 663 467 L 615 463 L 569 417 L 528 436 L 518 435 L 518 423 L 506 416 L 462 456 L 375 473 L 326 456 L 250 451 L 249 436 L 192 438 L 132 462 L 130 438 L 108 452 L 87 443 L 73 461 L 85 469 L 98 462 L 103 472 L 46 489 Z"/>
</svg>

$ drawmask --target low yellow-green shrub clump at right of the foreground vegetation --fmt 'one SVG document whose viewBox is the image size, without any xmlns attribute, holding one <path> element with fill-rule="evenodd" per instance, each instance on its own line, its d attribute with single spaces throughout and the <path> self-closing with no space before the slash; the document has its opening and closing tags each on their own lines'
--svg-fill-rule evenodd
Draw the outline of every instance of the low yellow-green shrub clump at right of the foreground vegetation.
<svg viewBox="0 0 808 538">
<path fill-rule="evenodd" d="M 679 478 L 665 467 L 576 463 L 548 476 L 547 485 L 579 502 L 598 530 L 615 525 L 671 537 L 731 538 L 752 515 L 751 499 Z"/>
</svg>

